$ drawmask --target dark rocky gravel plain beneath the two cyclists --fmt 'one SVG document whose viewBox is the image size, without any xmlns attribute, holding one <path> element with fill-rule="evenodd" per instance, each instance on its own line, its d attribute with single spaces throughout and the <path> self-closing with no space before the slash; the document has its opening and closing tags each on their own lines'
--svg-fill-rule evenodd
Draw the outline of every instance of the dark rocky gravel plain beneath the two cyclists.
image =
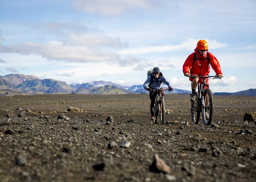
<svg viewBox="0 0 256 182">
<path fill-rule="evenodd" d="M 2 96 L 0 181 L 255 181 L 256 97 L 214 101 L 204 126 L 188 95 L 166 94 L 165 124 L 148 94 Z"/>
</svg>

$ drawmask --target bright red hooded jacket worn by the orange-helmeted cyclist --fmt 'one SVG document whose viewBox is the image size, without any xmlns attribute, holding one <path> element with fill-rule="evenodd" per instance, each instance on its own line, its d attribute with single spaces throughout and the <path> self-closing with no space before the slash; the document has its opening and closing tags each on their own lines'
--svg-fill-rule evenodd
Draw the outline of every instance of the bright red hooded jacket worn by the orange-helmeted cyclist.
<svg viewBox="0 0 256 182">
<path fill-rule="evenodd" d="M 186 59 L 186 61 L 183 64 L 183 73 L 193 73 L 196 75 L 207 75 L 210 73 L 210 67 L 208 65 L 208 61 L 207 59 L 201 59 L 201 58 L 206 58 L 205 56 L 201 56 L 198 52 L 197 52 L 197 48 L 195 48 L 195 53 L 197 56 L 197 59 L 199 60 L 195 60 L 194 64 L 193 64 L 193 60 L 194 60 L 194 53 L 192 53 L 191 55 L 188 56 L 188 58 Z M 215 71 L 216 75 L 219 75 L 221 73 L 220 70 L 220 63 L 218 62 L 218 60 L 216 59 L 216 57 L 209 52 L 209 58 L 210 58 L 210 65 L 212 67 L 212 69 Z"/>
</svg>

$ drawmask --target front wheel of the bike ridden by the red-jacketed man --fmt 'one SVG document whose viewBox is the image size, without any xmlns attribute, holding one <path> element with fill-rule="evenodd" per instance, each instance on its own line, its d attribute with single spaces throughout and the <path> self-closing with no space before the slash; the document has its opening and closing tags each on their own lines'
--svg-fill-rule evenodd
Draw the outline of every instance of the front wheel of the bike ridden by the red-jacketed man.
<svg viewBox="0 0 256 182">
<path fill-rule="evenodd" d="M 210 125 L 213 118 L 213 97 L 210 89 L 204 90 L 204 106 L 202 106 L 204 125 Z"/>
</svg>

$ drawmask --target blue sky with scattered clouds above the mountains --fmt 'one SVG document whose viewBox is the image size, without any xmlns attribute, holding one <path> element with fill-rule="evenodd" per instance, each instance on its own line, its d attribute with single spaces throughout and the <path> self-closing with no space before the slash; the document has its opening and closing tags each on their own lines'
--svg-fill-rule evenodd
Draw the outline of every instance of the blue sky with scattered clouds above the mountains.
<svg viewBox="0 0 256 182">
<path fill-rule="evenodd" d="M 173 88 L 198 40 L 220 62 L 212 92 L 256 88 L 255 0 L 0 0 L 0 75 L 140 85 L 159 67 Z M 215 75 L 211 69 L 210 75 Z"/>
</svg>

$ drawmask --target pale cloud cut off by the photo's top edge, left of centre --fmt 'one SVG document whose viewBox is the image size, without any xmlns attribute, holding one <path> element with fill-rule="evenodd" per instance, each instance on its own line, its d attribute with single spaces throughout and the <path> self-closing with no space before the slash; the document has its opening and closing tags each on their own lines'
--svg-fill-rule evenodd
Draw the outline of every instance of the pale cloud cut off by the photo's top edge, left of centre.
<svg viewBox="0 0 256 182">
<path fill-rule="evenodd" d="M 75 0 L 74 6 L 96 15 L 120 16 L 133 9 L 149 9 L 153 3 L 150 0 Z"/>
</svg>

